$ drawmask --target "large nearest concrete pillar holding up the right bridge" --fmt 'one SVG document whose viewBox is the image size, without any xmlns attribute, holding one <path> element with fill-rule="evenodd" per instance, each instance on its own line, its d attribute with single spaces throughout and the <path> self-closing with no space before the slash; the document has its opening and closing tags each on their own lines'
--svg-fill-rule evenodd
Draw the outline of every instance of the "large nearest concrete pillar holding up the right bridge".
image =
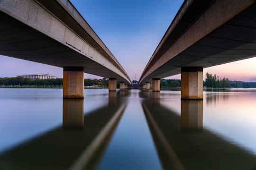
<svg viewBox="0 0 256 170">
<path fill-rule="evenodd" d="M 202 100 L 203 98 L 203 68 L 181 68 L 181 98 Z"/>
</svg>

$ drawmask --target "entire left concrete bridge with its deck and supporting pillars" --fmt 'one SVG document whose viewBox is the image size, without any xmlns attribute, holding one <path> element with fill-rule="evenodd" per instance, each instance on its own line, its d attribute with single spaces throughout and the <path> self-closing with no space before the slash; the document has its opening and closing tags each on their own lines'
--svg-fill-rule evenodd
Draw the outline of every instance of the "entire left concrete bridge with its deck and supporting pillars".
<svg viewBox="0 0 256 170">
<path fill-rule="evenodd" d="M 118 60 L 69 0 L 0 0 L 0 54 L 64 68 L 63 97 L 83 98 L 84 73 L 131 84 Z"/>
</svg>

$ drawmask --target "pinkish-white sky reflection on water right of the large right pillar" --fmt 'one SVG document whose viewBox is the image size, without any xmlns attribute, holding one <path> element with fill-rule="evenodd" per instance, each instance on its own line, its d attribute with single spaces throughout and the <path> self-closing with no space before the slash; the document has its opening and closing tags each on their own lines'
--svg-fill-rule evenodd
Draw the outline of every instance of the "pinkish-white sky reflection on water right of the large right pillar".
<svg viewBox="0 0 256 170">
<path fill-rule="evenodd" d="M 203 125 L 256 154 L 256 90 L 204 92 Z"/>
</svg>

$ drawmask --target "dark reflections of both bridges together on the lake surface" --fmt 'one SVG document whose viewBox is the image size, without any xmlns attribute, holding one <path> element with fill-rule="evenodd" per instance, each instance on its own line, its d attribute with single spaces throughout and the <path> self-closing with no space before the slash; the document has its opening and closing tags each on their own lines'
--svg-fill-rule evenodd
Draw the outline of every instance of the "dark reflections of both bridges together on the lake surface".
<svg viewBox="0 0 256 170">
<path fill-rule="evenodd" d="M 255 168 L 254 154 L 203 127 L 203 101 L 180 101 L 177 95 L 179 113 L 162 104 L 165 94 L 160 92 L 120 90 L 108 95 L 107 105 L 87 114 L 84 99 L 63 99 L 63 125 L 1 153 L 0 169 L 97 169 L 126 110 L 127 97 L 137 96 L 163 169 Z"/>
</svg>

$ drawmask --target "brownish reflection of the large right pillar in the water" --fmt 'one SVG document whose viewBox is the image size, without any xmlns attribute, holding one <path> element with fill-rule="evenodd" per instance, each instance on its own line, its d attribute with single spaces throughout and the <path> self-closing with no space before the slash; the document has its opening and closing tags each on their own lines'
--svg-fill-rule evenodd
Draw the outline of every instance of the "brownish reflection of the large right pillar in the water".
<svg viewBox="0 0 256 170">
<path fill-rule="evenodd" d="M 201 130 L 203 128 L 203 101 L 181 101 L 181 128 Z"/>
</svg>

